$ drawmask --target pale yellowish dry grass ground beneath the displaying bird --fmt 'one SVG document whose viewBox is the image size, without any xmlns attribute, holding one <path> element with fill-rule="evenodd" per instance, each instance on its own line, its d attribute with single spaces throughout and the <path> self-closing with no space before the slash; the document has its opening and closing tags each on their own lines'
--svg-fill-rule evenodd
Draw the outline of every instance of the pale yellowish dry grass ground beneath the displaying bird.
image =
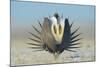
<svg viewBox="0 0 100 67">
<path fill-rule="evenodd" d="M 32 52 L 28 45 L 22 41 L 12 41 L 11 47 L 11 65 L 32 65 L 32 64 L 50 64 L 50 63 L 67 63 L 80 61 L 94 61 L 95 49 L 94 41 L 83 40 L 81 48 L 77 52 L 64 51 L 57 59 L 46 51 Z M 24 45 L 17 45 L 24 44 Z"/>
</svg>

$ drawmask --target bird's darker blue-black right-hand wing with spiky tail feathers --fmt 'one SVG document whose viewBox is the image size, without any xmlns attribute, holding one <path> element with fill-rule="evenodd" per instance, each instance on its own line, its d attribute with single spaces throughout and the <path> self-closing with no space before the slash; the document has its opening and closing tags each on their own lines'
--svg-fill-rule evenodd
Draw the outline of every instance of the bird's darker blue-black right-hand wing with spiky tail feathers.
<svg viewBox="0 0 100 67">
<path fill-rule="evenodd" d="M 75 35 L 75 33 L 79 30 L 79 28 L 71 33 L 72 25 L 73 23 L 70 25 L 68 19 L 66 18 L 62 43 L 60 44 L 60 46 L 58 46 L 59 53 L 62 53 L 64 50 L 76 52 L 71 49 L 79 48 L 79 47 L 73 47 L 74 45 L 80 44 L 80 43 L 76 43 L 80 40 L 80 39 L 76 39 L 80 34 Z"/>
</svg>

